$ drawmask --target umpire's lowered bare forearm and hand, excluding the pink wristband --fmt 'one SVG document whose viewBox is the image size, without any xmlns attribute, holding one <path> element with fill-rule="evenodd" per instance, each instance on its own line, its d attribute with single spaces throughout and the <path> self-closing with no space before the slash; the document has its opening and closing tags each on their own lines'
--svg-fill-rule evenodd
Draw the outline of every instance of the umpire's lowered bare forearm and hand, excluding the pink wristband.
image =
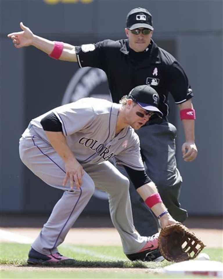
<svg viewBox="0 0 223 279">
<path fill-rule="evenodd" d="M 191 99 L 179 104 L 179 109 L 193 109 Z M 182 119 L 184 128 L 185 143 L 182 145 L 181 151 L 184 161 L 193 161 L 197 157 L 197 147 L 195 144 L 195 120 Z"/>
</svg>

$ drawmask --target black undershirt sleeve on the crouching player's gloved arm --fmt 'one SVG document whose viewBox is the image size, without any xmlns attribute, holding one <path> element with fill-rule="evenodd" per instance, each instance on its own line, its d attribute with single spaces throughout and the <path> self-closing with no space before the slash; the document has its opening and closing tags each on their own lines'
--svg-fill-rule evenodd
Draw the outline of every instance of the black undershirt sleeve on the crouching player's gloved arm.
<svg viewBox="0 0 223 279">
<path fill-rule="evenodd" d="M 127 166 L 124 166 L 124 168 L 136 189 L 152 181 L 145 170 L 133 170 Z"/>
</svg>

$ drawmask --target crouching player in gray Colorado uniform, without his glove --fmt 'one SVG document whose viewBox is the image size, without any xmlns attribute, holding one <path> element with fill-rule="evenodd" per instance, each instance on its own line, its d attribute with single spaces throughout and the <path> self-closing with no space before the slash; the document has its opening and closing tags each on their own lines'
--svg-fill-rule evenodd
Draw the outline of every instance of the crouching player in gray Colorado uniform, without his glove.
<svg viewBox="0 0 223 279">
<path fill-rule="evenodd" d="M 19 141 L 22 162 L 49 186 L 64 190 L 51 216 L 32 244 L 29 264 L 72 262 L 61 255 L 60 245 L 85 208 L 94 189 L 108 193 L 112 222 L 130 260 L 149 261 L 158 246 L 159 233 L 146 237 L 135 230 L 129 196 L 129 180 L 111 158 L 130 173 L 137 192 L 160 219 L 161 226 L 175 224 L 147 176 L 140 155 L 139 137 L 157 108 L 159 96 L 152 87 L 135 87 L 120 104 L 83 98 L 31 120 Z M 93 241 L 93 240 L 92 240 Z"/>
</svg>

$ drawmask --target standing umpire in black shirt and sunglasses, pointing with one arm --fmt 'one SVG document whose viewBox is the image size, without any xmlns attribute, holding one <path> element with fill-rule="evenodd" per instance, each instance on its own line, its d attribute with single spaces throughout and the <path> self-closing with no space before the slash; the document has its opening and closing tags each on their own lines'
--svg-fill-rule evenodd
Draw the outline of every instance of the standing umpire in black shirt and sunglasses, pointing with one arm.
<svg viewBox="0 0 223 279">
<path fill-rule="evenodd" d="M 187 211 L 180 208 L 179 195 L 182 178 L 175 159 L 177 130 L 168 122 L 170 92 L 179 107 L 185 133 L 181 151 L 184 161 L 193 161 L 197 156 L 195 145 L 195 109 L 192 104 L 192 89 L 188 77 L 179 62 L 170 53 L 158 47 L 152 40 L 152 15 L 145 8 L 135 8 L 127 15 L 125 34 L 127 39 L 104 40 L 96 44 L 71 46 L 38 37 L 20 24 L 22 32 L 8 35 L 16 48 L 35 46 L 60 60 L 78 62 L 79 66 L 96 67 L 105 71 L 113 102 L 141 84 L 153 87 L 159 94 L 159 110 L 163 117 L 153 116 L 137 131 L 141 153 L 147 174 L 155 182 L 162 200 L 170 214 L 179 222 L 187 219 Z M 123 170 L 124 171 L 124 170 Z M 127 176 L 127 173 L 125 173 Z M 130 183 L 130 196 L 134 225 L 141 235 L 153 235 L 158 231 L 154 217 Z M 159 251 L 151 260 L 159 260 Z"/>
</svg>

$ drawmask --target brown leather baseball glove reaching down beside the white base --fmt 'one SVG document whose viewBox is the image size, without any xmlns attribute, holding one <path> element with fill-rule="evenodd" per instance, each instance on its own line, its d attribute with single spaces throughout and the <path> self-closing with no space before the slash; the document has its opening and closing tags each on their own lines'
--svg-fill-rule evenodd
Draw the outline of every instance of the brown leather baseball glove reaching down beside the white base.
<svg viewBox="0 0 223 279">
<path fill-rule="evenodd" d="M 166 226 L 158 238 L 158 247 L 163 258 L 170 262 L 192 260 L 206 245 L 181 223 Z"/>
</svg>

